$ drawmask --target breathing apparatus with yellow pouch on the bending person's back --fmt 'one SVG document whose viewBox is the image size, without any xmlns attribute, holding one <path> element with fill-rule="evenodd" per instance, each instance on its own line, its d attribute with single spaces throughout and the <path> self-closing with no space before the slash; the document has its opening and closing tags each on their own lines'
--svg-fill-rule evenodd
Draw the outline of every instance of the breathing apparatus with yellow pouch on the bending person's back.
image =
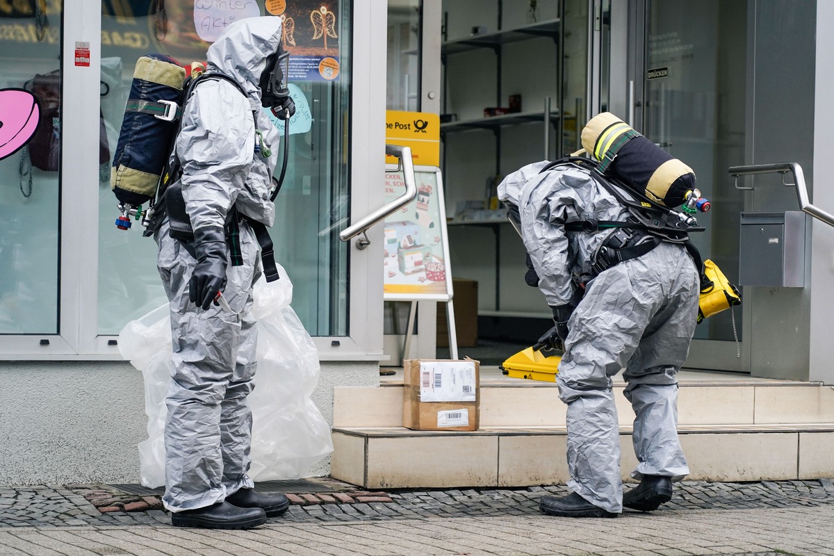
<svg viewBox="0 0 834 556">
<path fill-rule="evenodd" d="M 701 295 L 697 322 L 741 304 L 741 293 L 716 263 L 703 261 L 689 233 L 702 232 L 694 214 L 706 213 L 711 204 L 695 187 L 692 169 L 657 147 L 611 113 L 601 113 L 582 130 L 584 149 L 548 164 L 545 172 L 562 164 L 585 168 L 590 177 L 628 209 L 625 222 L 586 220 L 565 226 L 568 231 L 593 233 L 619 228 L 600 248 L 594 271 L 641 256 L 661 241 L 681 243 L 699 270 Z M 588 157 L 580 154 L 587 153 Z M 680 210 L 673 207 L 679 206 Z M 646 241 L 641 235 L 649 235 Z M 606 246 L 606 243 L 608 244 Z"/>
</svg>

